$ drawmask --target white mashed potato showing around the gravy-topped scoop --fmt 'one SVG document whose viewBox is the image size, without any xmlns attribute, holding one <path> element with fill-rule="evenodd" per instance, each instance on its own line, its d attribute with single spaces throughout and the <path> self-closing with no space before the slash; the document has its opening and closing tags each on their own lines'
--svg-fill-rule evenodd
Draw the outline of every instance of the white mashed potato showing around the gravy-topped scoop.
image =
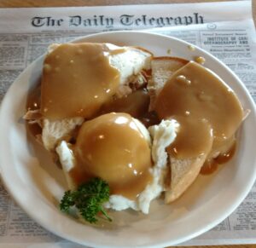
<svg viewBox="0 0 256 248">
<path fill-rule="evenodd" d="M 112 194 L 104 206 L 115 211 L 123 211 L 131 208 L 135 211 L 142 211 L 144 214 L 148 214 L 151 201 L 159 197 L 160 193 L 165 189 L 164 177 L 167 171 L 166 147 L 174 141 L 177 135 L 178 124 L 175 120 L 162 120 L 160 124 L 151 126 L 147 130 L 140 121 L 135 118 L 133 120 L 151 146 L 151 155 L 154 163 L 149 169 L 149 172 L 152 175 L 152 181 L 138 195 L 137 199 L 132 200 L 119 194 Z M 69 176 L 68 171 L 73 169 L 76 159 L 69 146 L 66 141 L 61 141 L 60 145 L 56 148 L 56 152 L 59 155 L 69 187 L 73 189 L 73 180 Z"/>
</svg>

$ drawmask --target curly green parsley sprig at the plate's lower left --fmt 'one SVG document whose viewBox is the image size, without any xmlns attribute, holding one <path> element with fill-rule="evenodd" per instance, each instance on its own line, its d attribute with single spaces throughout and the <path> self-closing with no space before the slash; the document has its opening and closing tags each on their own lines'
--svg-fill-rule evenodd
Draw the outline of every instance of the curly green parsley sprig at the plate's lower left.
<svg viewBox="0 0 256 248">
<path fill-rule="evenodd" d="M 77 190 L 66 191 L 61 199 L 60 208 L 61 211 L 69 213 L 70 208 L 75 206 L 84 220 L 90 223 L 98 221 L 99 213 L 102 213 L 109 222 L 112 222 L 102 206 L 108 199 L 108 183 L 96 177 L 81 184 Z"/>
</svg>

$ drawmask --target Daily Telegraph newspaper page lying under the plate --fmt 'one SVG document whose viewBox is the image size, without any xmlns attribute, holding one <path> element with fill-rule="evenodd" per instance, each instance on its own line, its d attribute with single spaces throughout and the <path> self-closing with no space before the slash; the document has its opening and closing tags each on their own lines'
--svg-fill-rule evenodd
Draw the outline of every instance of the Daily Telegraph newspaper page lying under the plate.
<svg viewBox="0 0 256 248">
<path fill-rule="evenodd" d="M 144 30 L 206 49 L 236 72 L 256 101 L 256 37 L 250 1 L 0 9 L 0 101 L 50 43 L 113 30 Z M 256 184 L 224 222 L 182 245 L 256 243 Z M 82 247 L 50 234 L 0 185 L 0 247 Z"/>
</svg>

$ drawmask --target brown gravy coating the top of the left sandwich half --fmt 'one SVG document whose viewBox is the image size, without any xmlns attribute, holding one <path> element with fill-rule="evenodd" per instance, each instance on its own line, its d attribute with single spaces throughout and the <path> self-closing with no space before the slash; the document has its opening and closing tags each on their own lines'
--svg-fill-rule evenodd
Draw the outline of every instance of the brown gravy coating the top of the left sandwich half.
<svg viewBox="0 0 256 248">
<path fill-rule="evenodd" d="M 109 55 L 125 49 L 110 49 L 102 43 L 64 43 L 44 60 L 41 112 L 45 118 L 90 118 L 119 87 L 119 70 Z"/>
</svg>

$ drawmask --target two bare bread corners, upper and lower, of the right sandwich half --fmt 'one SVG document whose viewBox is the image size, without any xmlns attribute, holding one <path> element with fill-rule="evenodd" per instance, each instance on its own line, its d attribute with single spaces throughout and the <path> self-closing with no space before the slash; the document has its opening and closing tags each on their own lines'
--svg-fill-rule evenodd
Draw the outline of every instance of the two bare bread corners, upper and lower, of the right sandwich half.
<svg viewBox="0 0 256 248">
<path fill-rule="evenodd" d="M 187 62 L 189 61 L 172 57 L 160 57 L 152 61 L 152 78 L 148 85 L 151 96 L 150 107 L 154 109 L 156 96 L 164 87 L 166 81 L 171 78 L 172 74 L 179 68 L 186 65 Z M 166 182 L 169 182 L 169 185 L 166 185 L 166 203 L 171 203 L 186 191 L 199 175 L 201 166 L 206 159 L 207 155 L 199 155 L 193 159 L 175 159 L 169 155 L 168 164 L 171 169 L 171 174 L 167 174 L 167 176 L 171 176 L 171 178 L 166 178 Z"/>
</svg>

